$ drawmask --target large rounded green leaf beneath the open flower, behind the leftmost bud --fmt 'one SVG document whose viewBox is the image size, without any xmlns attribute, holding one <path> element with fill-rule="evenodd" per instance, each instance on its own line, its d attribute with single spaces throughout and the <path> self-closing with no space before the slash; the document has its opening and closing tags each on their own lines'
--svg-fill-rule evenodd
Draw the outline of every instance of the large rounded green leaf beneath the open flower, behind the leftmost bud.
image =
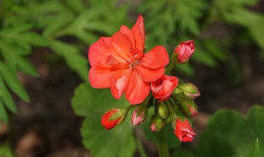
<svg viewBox="0 0 264 157">
<path fill-rule="evenodd" d="M 92 156 L 133 156 L 135 141 L 130 120 L 112 130 L 106 130 L 100 122 L 106 111 L 127 105 L 129 103 L 124 98 L 115 100 L 108 89 L 93 89 L 85 83 L 76 89 L 72 108 L 77 115 L 85 116 L 81 135 Z"/>
</svg>

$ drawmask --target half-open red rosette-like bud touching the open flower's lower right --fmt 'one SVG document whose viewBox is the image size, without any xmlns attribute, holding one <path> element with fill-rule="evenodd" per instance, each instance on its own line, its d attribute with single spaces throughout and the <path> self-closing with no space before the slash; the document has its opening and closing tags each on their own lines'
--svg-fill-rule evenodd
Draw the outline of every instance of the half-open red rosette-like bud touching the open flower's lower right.
<svg viewBox="0 0 264 157">
<path fill-rule="evenodd" d="M 151 91 L 158 102 L 168 100 L 178 85 L 178 79 L 174 76 L 163 75 L 155 82 L 151 82 Z"/>
</svg>

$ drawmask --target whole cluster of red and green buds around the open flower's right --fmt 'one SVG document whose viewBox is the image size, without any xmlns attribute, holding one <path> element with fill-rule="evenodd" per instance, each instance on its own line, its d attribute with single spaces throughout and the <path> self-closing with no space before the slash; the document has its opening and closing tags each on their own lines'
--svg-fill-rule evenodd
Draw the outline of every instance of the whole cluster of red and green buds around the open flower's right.
<svg viewBox="0 0 264 157">
<path fill-rule="evenodd" d="M 189 122 L 190 118 L 197 116 L 195 98 L 200 93 L 197 86 L 184 83 L 177 77 L 168 75 L 177 64 L 185 64 L 195 50 L 194 41 L 184 41 L 179 44 L 172 55 L 172 62 L 168 66 L 165 75 L 154 82 L 150 82 L 151 93 L 141 104 L 131 105 L 127 109 L 112 109 L 101 118 L 101 124 L 106 129 L 121 124 L 131 111 L 131 123 L 140 125 L 147 119 L 148 110 L 154 107 L 154 115 L 151 116 L 149 128 L 158 132 L 166 124 L 172 124 L 172 129 L 180 141 L 192 141 L 195 132 Z M 153 96 L 152 96 L 153 95 Z M 154 102 L 154 103 L 152 103 Z"/>
</svg>

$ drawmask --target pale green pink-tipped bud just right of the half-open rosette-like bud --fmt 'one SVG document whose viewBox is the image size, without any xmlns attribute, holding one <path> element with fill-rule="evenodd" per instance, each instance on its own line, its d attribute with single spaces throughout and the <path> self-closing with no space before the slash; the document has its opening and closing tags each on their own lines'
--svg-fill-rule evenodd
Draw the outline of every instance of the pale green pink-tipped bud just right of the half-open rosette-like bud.
<svg viewBox="0 0 264 157">
<path fill-rule="evenodd" d="M 183 91 L 184 95 L 188 96 L 189 98 L 197 98 L 200 95 L 199 90 L 197 89 L 197 86 L 195 84 L 181 84 L 178 86 L 181 91 Z"/>
</svg>

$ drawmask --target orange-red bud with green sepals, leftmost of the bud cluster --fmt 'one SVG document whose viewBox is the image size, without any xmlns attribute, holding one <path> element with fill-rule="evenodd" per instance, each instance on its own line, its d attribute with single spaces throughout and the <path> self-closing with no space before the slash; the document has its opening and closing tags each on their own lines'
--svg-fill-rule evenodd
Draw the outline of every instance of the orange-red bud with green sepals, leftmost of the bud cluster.
<svg viewBox="0 0 264 157">
<path fill-rule="evenodd" d="M 125 113 L 123 109 L 112 109 L 110 111 L 107 111 L 101 117 L 101 124 L 106 129 L 112 129 L 124 120 L 124 114 Z"/>
</svg>

